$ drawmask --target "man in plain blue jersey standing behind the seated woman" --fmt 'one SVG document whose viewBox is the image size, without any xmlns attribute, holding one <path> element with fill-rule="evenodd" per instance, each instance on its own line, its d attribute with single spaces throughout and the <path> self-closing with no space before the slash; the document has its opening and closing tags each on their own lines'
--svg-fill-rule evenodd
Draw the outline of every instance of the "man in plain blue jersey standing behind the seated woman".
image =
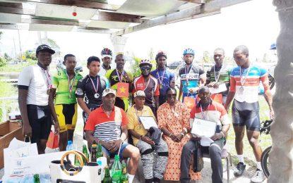
<svg viewBox="0 0 293 183">
<path fill-rule="evenodd" d="M 157 78 L 160 86 L 160 96 L 159 105 L 162 105 L 167 101 L 166 91 L 169 87 L 174 87 L 174 74 L 167 70 L 167 55 L 166 53 L 160 51 L 155 56 L 155 61 L 157 61 L 157 69 L 150 72 L 150 75 Z"/>
</svg>

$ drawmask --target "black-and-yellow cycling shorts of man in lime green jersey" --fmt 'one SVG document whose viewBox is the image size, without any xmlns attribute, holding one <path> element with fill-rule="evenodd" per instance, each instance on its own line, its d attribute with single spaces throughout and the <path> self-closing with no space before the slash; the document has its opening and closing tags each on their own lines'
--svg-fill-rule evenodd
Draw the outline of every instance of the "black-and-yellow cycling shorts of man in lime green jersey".
<svg viewBox="0 0 293 183">
<path fill-rule="evenodd" d="M 60 133 L 76 128 L 78 115 L 77 103 L 55 105 L 55 111 L 59 121 Z"/>
</svg>

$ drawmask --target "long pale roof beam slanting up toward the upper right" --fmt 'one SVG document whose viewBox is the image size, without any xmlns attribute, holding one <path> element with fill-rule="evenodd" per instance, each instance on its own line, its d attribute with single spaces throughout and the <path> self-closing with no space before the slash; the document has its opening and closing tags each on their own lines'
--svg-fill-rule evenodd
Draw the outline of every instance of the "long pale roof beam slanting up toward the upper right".
<svg viewBox="0 0 293 183">
<path fill-rule="evenodd" d="M 205 15 L 210 15 L 210 13 L 220 11 L 221 8 L 225 8 L 227 6 L 233 6 L 235 4 L 244 3 L 246 1 L 251 1 L 251 0 L 214 0 L 214 1 L 208 1 L 207 3 L 202 4 L 201 6 L 194 6 L 192 8 L 184 9 L 182 11 L 178 11 L 175 13 L 170 13 L 168 15 L 164 15 L 164 16 L 161 16 L 158 18 L 145 20 L 140 25 L 128 27 L 124 30 L 114 32 L 114 33 L 112 33 L 111 36 L 121 36 L 124 34 L 129 34 L 131 32 L 137 32 L 139 30 L 144 30 L 144 29 L 147 29 L 150 27 L 155 27 L 157 25 L 165 25 L 168 23 L 179 22 L 181 20 L 188 20 L 191 18 L 203 17 Z"/>
</svg>

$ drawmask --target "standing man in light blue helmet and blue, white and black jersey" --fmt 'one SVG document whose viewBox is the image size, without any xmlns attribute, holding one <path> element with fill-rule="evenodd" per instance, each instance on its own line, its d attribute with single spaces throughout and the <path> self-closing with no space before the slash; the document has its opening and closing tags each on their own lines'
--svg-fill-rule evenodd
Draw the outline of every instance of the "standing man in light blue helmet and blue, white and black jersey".
<svg viewBox="0 0 293 183">
<path fill-rule="evenodd" d="M 193 64 L 194 51 L 193 49 L 185 49 L 183 59 L 186 65 L 179 70 L 180 89 L 179 100 L 183 94 L 182 101 L 185 96 L 196 98 L 198 86 L 205 84 L 205 71 L 198 65 Z"/>
</svg>

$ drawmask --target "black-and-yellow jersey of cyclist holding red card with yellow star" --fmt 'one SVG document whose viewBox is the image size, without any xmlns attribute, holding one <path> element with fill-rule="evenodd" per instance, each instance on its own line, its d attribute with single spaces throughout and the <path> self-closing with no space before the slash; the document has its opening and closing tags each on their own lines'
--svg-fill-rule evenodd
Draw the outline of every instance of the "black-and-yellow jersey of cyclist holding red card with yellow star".
<svg viewBox="0 0 293 183">
<path fill-rule="evenodd" d="M 106 73 L 106 77 L 109 80 L 109 84 L 111 86 L 112 89 L 117 90 L 117 85 L 120 82 L 119 80 L 121 80 L 121 82 L 126 82 L 129 84 L 129 88 L 128 88 L 128 92 L 131 92 L 131 82 L 132 82 L 132 75 L 129 72 L 122 72 L 121 74 L 117 73 L 118 71 L 116 71 L 116 69 L 112 69 L 112 70 L 108 70 Z M 129 82 L 127 82 L 126 77 L 129 78 Z M 119 79 L 121 78 L 121 79 Z M 124 109 L 124 111 L 126 111 L 128 109 L 128 97 L 124 97 L 124 98 L 119 98 L 116 97 L 116 101 L 115 101 L 115 106 Z"/>
</svg>

